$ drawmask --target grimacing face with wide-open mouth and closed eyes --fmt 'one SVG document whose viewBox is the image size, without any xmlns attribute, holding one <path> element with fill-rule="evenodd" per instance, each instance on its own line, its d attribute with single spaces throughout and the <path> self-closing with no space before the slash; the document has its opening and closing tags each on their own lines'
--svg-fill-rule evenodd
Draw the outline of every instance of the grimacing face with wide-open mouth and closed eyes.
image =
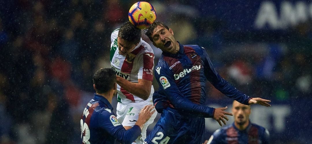
<svg viewBox="0 0 312 144">
<path fill-rule="evenodd" d="M 166 29 L 163 26 L 157 26 L 152 34 L 153 45 L 160 48 L 164 52 L 177 53 L 179 44 L 173 37 L 172 29 Z"/>
</svg>

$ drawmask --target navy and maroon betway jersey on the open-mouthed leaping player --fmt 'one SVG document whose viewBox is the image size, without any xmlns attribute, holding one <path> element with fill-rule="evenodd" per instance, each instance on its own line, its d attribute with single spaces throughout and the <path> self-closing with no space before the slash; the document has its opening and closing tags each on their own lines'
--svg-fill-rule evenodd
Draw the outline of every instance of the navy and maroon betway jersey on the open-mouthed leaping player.
<svg viewBox="0 0 312 144">
<path fill-rule="evenodd" d="M 250 97 L 218 74 L 204 48 L 180 43 L 179 46 L 177 54 L 163 52 L 154 70 L 159 90 L 153 94 L 153 102 L 158 113 L 169 106 L 191 115 L 212 118 L 215 109 L 203 105 L 206 80 L 228 97 L 249 105 Z"/>
</svg>

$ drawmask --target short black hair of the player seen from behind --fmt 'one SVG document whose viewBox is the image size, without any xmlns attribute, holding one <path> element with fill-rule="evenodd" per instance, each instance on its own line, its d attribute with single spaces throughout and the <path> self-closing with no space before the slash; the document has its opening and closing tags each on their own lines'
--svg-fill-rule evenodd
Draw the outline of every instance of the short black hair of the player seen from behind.
<svg viewBox="0 0 312 144">
<path fill-rule="evenodd" d="M 101 68 L 93 75 L 93 84 L 95 84 L 96 92 L 99 94 L 113 89 L 116 81 L 116 73 L 111 68 Z"/>
</svg>

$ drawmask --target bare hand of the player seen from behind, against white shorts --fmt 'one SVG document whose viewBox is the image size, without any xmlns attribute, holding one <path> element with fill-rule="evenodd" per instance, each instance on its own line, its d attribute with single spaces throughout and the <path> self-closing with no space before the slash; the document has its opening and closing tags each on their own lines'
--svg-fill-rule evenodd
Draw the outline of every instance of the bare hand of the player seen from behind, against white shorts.
<svg viewBox="0 0 312 144">
<path fill-rule="evenodd" d="M 153 113 L 155 113 L 155 110 L 153 110 L 153 108 L 155 108 L 153 105 L 146 105 L 144 108 L 141 109 L 138 121 L 135 123 L 135 125 L 138 125 L 141 130 L 144 126 L 144 123 L 147 122 L 149 118 L 151 118 Z"/>
</svg>

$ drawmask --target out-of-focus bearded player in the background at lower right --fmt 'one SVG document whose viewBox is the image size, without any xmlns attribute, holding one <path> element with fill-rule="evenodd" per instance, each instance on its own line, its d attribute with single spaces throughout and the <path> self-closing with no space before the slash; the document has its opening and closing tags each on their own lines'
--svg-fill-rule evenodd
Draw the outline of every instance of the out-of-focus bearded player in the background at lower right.
<svg viewBox="0 0 312 144">
<path fill-rule="evenodd" d="M 250 122 L 250 105 L 241 104 L 234 100 L 232 113 L 234 116 L 233 124 L 216 130 L 209 141 L 206 140 L 204 144 L 269 143 L 269 131 Z"/>
</svg>

